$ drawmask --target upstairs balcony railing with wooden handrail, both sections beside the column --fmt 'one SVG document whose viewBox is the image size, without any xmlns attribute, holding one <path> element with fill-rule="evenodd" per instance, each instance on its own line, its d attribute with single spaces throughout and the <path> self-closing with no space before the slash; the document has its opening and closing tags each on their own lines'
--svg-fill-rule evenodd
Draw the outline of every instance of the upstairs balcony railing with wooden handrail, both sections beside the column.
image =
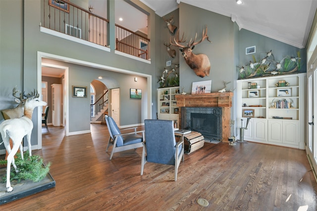
<svg viewBox="0 0 317 211">
<path fill-rule="evenodd" d="M 109 21 L 67 0 L 43 0 L 41 26 L 88 42 L 108 46 Z M 149 59 L 150 39 L 115 24 L 115 49 Z"/>
</svg>

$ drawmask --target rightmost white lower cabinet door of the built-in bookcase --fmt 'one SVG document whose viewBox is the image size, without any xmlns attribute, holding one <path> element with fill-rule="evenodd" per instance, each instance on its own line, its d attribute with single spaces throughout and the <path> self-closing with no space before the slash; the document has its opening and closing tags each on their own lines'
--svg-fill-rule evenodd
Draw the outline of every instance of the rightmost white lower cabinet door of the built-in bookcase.
<svg viewBox="0 0 317 211">
<path fill-rule="evenodd" d="M 283 143 L 297 144 L 299 142 L 299 131 L 297 121 L 284 121 L 283 122 Z"/>
</svg>

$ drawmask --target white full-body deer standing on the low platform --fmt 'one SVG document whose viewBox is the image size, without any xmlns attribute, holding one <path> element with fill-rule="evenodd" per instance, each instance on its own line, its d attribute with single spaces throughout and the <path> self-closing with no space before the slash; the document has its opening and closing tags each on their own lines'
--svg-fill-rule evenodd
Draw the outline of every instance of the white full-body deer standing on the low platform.
<svg viewBox="0 0 317 211">
<path fill-rule="evenodd" d="M 28 95 L 27 95 L 28 96 Z M 29 96 L 28 96 L 29 97 Z M 11 164 L 13 165 L 16 172 L 18 169 L 14 164 L 14 155 L 20 147 L 21 155 L 23 154 L 21 141 L 26 135 L 28 141 L 28 148 L 30 156 L 31 152 L 31 133 L 33 129 L 32 114 L 35 107 L 45 106 L 46 102 L 43 102 L 39 99 L 39 94 L 29 97 L 25 100 L 24 103 L 24 116 L 21 118 L 5 120 L 0 124 L 0 133 L 4 143 L 6 151 L 9 153 L 7 156 L 7 165 L 6 165 L 6 191 L 11 192 L 13 188 L 10 183 L 10 168 Z M 11 149 L 9 144 L 9 139 L 12 139 L 13 147 Z"/>
</svg>

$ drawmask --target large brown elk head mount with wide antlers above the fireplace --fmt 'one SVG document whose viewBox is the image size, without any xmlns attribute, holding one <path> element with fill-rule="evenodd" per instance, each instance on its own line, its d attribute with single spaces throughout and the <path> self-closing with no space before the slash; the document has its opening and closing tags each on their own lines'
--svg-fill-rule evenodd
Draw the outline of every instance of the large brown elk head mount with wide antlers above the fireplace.
<svg viewBox="0 0 317 211">
<path fill-rule="evenodd" d="M 177 37 L 177 39 L 179 38 L 179 30 L 177 31 L 177 34 L 175 37 Z M 185 41 L 183 41 L 184 34 L 181 40 L 178 39 L 176 41 L 175 37 L 174 37 L 175 44 L 172 42 L 171 38 L 170 38 L 170 44 L 179 47 L 179 50 L 182 52 L 183 57 L 186 63 L 188 64 L 188 66 L 194 70 L 197 76 L 200 76 L 202 78 L 204 78 L 205 76 L 209 76 L 211 64 L 210 64 L 208 56 L 206 54 L 196 55 L 192 52 L 195 45 L 203 42 L 206 38 L 209 42 L 211 42 L 207 35 L 207 26 L 206 26 L 206 32 L 205 30 L 203 31 L 202 40 L 199 42 L 195 42 L 197 38 L 197 33 L 196 33 L 196 37 L 194 41 L 192 42 L 192 39 L 191 39 L 190 42 L 187 43 L 187 46 L 180 44 L 181 42 L 186 42 L 186 39 Z"/>
</svg>

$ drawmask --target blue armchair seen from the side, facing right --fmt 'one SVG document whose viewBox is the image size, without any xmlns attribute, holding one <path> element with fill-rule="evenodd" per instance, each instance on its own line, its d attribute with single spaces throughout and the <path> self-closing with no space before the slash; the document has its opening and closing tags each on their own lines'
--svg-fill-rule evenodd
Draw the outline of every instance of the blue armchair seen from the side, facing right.
<svg viewBox="0 0 317 211">
<path fill-rule="evenodd" d="M 105 119 L 110 134 L 106 152 L 108 151 L 110 144 L 113 144 L 109 160 L 112 159 L 113 153 L 115 152 L 122 152 L 144 146 L 144 130 L 136 131 L 137 127 L 129 127 L 121 129 L 121 131 L 134 129 L 134 132 L 121 134 L 119 127 L 111 117 L 105 115 Z M 141 133 L 141 135 L 139 135 L 138 133 Z"/>
</svg>

